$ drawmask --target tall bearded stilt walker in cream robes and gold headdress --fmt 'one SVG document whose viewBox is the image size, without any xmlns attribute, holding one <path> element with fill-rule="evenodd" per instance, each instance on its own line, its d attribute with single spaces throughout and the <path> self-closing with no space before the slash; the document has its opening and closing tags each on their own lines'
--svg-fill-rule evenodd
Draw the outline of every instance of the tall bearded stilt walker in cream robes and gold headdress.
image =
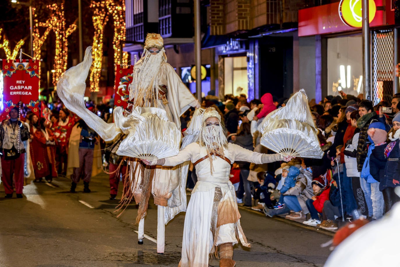
<svg viewBox="0 0 400 267">
<path fill-rule="evenodd" d="M 168 64 L 164 42 L 160 34 L 149 33 L 144 43 L 142 58 L 134 65 L 130 84 L 127 111 L 137 106 L 155 107 L 166 111 L 168 120 L 180 129 L 179 117 L 190 107 L 200 107 L 198 101 Z M 176 213 L 186 210 L 186 176 L 188 163 L 175 168 L 156 168 L 154 177 L 142 179 L 144 165 L 138 160 L 130 161 L 130 187 L 136 203 L 141 203 L 136 222 L 139 223 L 138 243 L 143 243 L 144 217 L 148 203 L 148 191 L 157 205 L 157 252 L 164 253 L 165 223 Z M 142 165 L 138 167 L 137 165 Z M 149 167 L 146 167 L 149 168 Z M 146 173 L 146 172 L 145 172 Z M 148 180 L 150 178 L 150 180 Z M 153 179 L 153 181 L 151 181 Z M 146 199 L 147 197 L 147 199 Z"/>
</svg>

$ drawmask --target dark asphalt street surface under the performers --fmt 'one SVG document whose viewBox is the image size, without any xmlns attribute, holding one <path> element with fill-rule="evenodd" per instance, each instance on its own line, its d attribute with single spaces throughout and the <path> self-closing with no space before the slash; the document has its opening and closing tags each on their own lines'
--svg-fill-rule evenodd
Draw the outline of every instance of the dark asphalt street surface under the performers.
<svg viewBox="0 0 400 267">
<path fill-rule="evenodd" d="M 121 197 L 121 187 L 117 199 Z M 91 193 L 70 193 L 70 180 L 28 180 L 24 198 L 4 198 L 0 188 L 0 266 L 177 266 L 185 213 L 166 225 L 165 253 L 156 250 L 157 208 L 150 199 L 143 245 L 138 245 L 137 206 L 119 216 L 109 200 L 108 175 L 92 178 Z M 189 198 L 190 196 L 188 196 Z M 234 246 L 236 266 L 323 266 L 330 251 L 321 244 L 332 233 L 240 207 L 240 221 L 251 248 Z M 218 266 L 218 259 L 210 259 Z"/>
</svg>

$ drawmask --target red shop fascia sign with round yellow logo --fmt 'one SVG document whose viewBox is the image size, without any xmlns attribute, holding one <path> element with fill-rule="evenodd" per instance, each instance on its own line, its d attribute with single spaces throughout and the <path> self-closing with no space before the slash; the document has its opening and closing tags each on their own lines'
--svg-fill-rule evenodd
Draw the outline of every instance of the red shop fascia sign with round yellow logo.
<svg viewBox="0 0 400 267">
<path fill-rule="evenodd" d="M 358 2 L 357 0 L 343 0 L 342 2 L 347 2 L 347 4 L 349 4 L 349 2 L 353 4 L 357 2 L 357 4 L 359 4 L 361 1 L 362 0 L 359 0 Z M 370 22 L 370 27 L 393 25 L 394 11 L 386 8 L 390 7 L 390 0 L 375 0 L 374 2 L 376 6 L 383 8 L 376 10 L 375 16 Z M 353 11 L 354 9 L 356 10 L 356 6 L 354 6 Z M 371 9 L 372 8 L 370 8 L 370 12 Z M 299 10 L 298 35 L 310 36 L 354 31 L 354 27 L 348 26 L 342 21 L 338 14 L 338 10 L 339 2 Z M 354 12 L 354 15 L 359 15 L 359 12 L 360 11 Z M 353 16 L 351 11 L 350 13 L 350 16 Z"/>
</svg>

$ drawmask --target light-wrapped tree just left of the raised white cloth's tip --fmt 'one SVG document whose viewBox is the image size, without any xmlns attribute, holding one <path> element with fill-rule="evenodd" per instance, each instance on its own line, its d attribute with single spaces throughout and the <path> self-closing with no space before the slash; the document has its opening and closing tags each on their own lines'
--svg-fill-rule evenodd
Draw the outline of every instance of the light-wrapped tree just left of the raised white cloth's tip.
<svg viewBox="0 0 400 267">
<path fill-rule="evenodd" d="M 38 26 L 52 30 L 56 35 L 56 53 L 54 56 L 54 75 L 53 85 L 56 90 L 58 78 L 67 70 L 68 58 L 68 36 L 76 30 L 76 24 L 72 23 L 68 28 L 66 26 L 64 15 L 64 4 L 60 7 L 57 4 L 48 5 L 47 8 L 52 10 L 51 17 L 46 22 L 39 22 Z"/>
</svg>

